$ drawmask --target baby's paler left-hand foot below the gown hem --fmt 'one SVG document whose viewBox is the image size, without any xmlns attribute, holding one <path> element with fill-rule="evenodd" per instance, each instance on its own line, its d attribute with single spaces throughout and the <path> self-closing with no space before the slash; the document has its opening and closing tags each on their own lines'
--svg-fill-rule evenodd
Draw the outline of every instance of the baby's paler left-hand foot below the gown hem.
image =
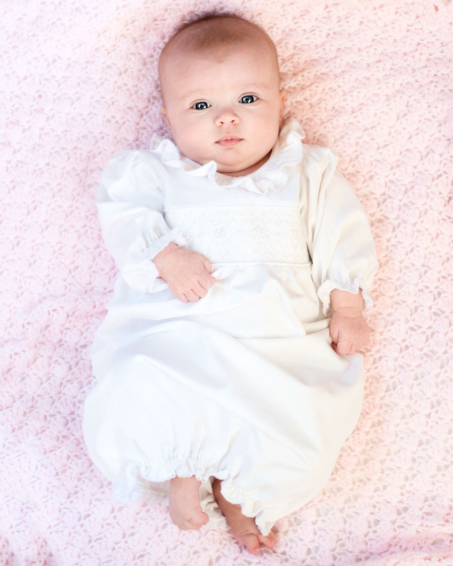
<svg viewBox="0 0 453 566">
<path fill-rule="evenodd" d="M 200 505 L 200 483 L 194 475 L 170 480 L 168 511 L 171 520 L 182 530 L 200 529 L 209 521 Z"/>
</svg>

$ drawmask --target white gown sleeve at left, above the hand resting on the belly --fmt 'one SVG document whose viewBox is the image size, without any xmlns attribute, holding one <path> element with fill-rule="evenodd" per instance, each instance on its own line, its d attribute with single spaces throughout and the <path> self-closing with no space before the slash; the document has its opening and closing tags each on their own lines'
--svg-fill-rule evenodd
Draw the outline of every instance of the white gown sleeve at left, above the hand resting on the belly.
<svg viewBox="0 0 453 566">
<path fill-rule="evenodd" d="M 97 195 L 106 246 L 132 288 L 150 293 L 164 289 L 152 258 L 170 242 L 185 246 L 180 229 L 164 219 L 159 167 L 148 151 L 125 151 L 113 157 Z"/>
</svg>

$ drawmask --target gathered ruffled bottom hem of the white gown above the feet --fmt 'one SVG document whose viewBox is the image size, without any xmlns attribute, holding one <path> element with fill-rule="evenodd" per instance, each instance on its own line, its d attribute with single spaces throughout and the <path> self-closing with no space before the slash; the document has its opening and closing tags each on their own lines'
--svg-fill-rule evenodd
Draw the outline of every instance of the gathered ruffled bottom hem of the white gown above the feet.
<svg viewBox="0 0 453 566">
<path fill-rule="evenodd" d="M 173 470 L 173 471 L 170 471 Z M 264 535 L 269 534 L 274 522 L 264 520 L 264 507 L 259 501 L 251 499 L 243 494 L 234 486 L 231 479 L 232 472 L 230 470 L 219 471 L 210 466 L 201 465 L 197 460 L 174 460 L 168 462 L 168 465 L 157 467 L 146 467 L 137 462 L 131 462 L 126 466 L 125 479 L 117 484 L 114 497 L 122 503 L 129 501 L 138 501 L 143 499 L 146 487 L 143 486 L 143 480 L 152 483 L 165 483 L 176 477 L 185 478 L 195 476 L 198 481 L 204 483 L 210 481 L 211 477 L 220 479 L 221 492 L 225 499 L 234 505 L 241 505 L 242 514 L 246 517 L 254 517 L 258 529 Z M 159 490 L 156 486 L 152 487 L 153 491 L 159 491 L 162 495 L 167 495 L 165 490 Z"/>
</svg>

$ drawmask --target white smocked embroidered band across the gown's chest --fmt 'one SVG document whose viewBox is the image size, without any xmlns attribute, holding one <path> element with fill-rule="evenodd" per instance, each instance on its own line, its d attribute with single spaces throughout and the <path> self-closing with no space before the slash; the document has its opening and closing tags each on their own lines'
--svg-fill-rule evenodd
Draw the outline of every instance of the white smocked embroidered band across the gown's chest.
<svg viewBox="0 0 453 566">
<path fill-rule="evenodd" d="M 165 220 L 213 263 L 310 261 L 296 207 L 180 208 L 166 211 Z"/>
</svg>

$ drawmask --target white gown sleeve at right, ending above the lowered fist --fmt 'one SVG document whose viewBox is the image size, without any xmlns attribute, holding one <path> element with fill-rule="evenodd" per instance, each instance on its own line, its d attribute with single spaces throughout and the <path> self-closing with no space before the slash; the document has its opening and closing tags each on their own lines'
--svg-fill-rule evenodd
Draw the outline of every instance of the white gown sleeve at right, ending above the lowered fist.
<svg viewBox="0 0 453 566">
<path fill-rule="evenodd" d="M 371 306 L 368 289 L 377 269 L 364 209 L 336 164 L 329 149 L 306 146 L 301 217 L 313 263 L 311 276 L 327 316 L 333 289 L 354 294 L 361 290 L 365 307 Z"/>
</svg>

